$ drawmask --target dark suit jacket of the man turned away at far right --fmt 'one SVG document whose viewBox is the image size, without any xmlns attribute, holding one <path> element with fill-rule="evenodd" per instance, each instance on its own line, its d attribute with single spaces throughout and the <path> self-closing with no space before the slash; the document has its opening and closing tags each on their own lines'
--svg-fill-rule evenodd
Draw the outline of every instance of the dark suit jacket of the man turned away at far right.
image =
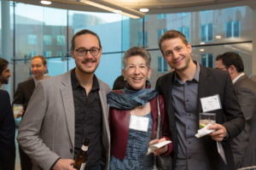
<svg viewBox="0 0 256 170">
<path fill-rule="evenodd" d="M 246 123 L 231 147 L 235 168 L 256 165 L 256 85 L 246 75 L 234 83 L 234 90 Z"/>
</svg>

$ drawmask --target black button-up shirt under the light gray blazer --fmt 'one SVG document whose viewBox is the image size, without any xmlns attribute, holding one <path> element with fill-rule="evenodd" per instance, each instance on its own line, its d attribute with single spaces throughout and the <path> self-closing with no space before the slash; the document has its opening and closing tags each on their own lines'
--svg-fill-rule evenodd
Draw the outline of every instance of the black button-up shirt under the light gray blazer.
<svg viewBox="0 0 256 170">
<path fill-rule="evenodd" d="M 93 84 L 88 96 L 78 78 L 75 69 L 71 72 L 73 87 L 73 104 L 75 109 L 75 147 L 74 158 L 84 143 L 90 139 L 86 169 L 96 166 L 102 161 L 102 105 L 99 92 L 99 82 L 93 77 Z"/>
</svg>

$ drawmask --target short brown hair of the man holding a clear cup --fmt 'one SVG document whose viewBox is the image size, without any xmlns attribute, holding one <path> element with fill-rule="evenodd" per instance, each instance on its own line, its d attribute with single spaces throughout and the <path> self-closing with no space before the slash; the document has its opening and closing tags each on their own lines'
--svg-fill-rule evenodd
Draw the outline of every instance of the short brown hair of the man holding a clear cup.
<svg viewBox="0 0 256 170">
<path fill-rule="evenodd" d="M 188 40 L 187 38 L 183 35 L 182 32 L 177 31 L 177 30 L 170 30 L 170 31 L 166 31 L 161 37 L 160 40 L 158 42 L 159 48 L 161 50 L 161 52 L 163 53 L 162 49 L 161 49 L 161 45 L 164 41 L 168 40 L 168 39 L 173 39 L 173 38 L 177 38 L 179 37 L 180 39 L 182 39 L 183 43 L 185 45 L 188 45 Z"/>
</svg>

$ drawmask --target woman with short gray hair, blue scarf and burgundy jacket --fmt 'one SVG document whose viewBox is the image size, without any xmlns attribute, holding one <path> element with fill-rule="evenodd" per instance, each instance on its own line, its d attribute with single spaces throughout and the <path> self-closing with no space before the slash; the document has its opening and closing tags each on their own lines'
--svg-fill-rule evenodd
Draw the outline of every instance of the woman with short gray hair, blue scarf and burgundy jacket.
<svg viewBox="0 0 256 170">
<path fill-rule="evenodd" d="M 148 143 L 170 140 L 168 118 L 160 96 L 162 136 L 155 139 L 157 92 L 147 81 L 151 75 L 151 56 L 146 49 L 130 48 L 123 57 L 125 88 L 108 94 L 111 132 L 110 169 L 152 169 L 154 156 L 146 155 Z M 140 122 L 140 123 L 139 123 Z M 139 126 L 139 125 L 142 126 Z M 172 143 L 155 150 L 154 155 L 172 153 Z"/>
</svg>

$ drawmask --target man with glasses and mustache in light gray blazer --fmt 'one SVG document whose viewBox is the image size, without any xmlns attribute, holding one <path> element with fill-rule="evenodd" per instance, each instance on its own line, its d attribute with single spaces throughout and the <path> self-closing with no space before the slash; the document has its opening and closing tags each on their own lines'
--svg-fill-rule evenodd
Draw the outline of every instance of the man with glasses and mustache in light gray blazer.
<svg viewBox="0 0 256 170">
<path fill-rule="evenodd" d="M 108 169 L 108 84 L 95 76 L 102 46 L 95 32 L 83 30 L 72 39 L 72 71 L 40 81 L 20 123 L 17 139 L 31 157 L 33 169 L 70 169 L 90 139 L 84 169 Z"/>
</svg>

